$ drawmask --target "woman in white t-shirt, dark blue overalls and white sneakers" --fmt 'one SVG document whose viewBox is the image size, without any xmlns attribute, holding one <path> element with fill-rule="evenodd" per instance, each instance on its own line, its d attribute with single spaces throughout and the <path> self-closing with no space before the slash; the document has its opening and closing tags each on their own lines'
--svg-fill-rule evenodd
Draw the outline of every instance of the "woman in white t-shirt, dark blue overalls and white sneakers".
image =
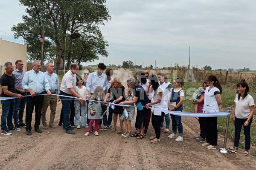
<svg viewBox="0 0 256 170">
<path fill-rule="evenodd" d="M 184 85 L 182 78 L 177 78 L 173 80 L 173 85 L 175 88 L 171 89 L 170 98 L 168 101 L 168 109 L 170 111 L 182 111 L 183 110 L 183 100 L 185 96 L 185 91 L 182 90 L 182 86 Z M 179 136 L 175 139 L 177 142 L 183 141 L 183 126 L 181 123 L 181 116 L 172 115 L 172 134 L 169 135 L 169 138 L 175 138 L 177 133 L 177 127 L 179 131 Z"/>
</svg>

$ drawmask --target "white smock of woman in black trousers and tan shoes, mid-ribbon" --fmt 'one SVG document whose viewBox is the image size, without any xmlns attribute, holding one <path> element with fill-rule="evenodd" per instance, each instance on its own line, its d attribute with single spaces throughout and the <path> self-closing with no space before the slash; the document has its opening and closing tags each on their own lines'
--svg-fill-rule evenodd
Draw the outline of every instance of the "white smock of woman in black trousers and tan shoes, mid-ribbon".
<svg viewBox="0 0 256 170">
<path fill-rule="evenodd" d="M 153 96 L 153 98 L 152 98 L 152 100 L 151 100 L 151 102 L 155 102 L 155 101 L 157 101 L 157 96 L 159 95 L 159 93 L 162 93 L 163 94 L 163 88 L 161 88 L 160 86 L 157 88 L 157 93 L 156 93 L 156 95 L 155 95 L 155 91 L 153 90 L 151 93 L 152 93 L 152 96 Z M 161 109 L 161 108 L 163 108 L 164 106 L 166 106 L 166 101 L 164 100 L 164 98 L 163 98 L 164 96 L 162 96 L 162 100 L 161 100 L 161 102 L 160 103 L 157 103 L 157 104 L 155 104 L 155 105 L 152 105 L 152 108 L 159 108 L 159 109 Z M 161 116 L 162 115 L 162 112 L 161 111 L 157 111 L 157 110 L 153 110 L 153 109 L 151 109 L 151 111 L 153 112 L 154 111 L 154 115 L 157 115 L 157 116 Z"/>
</svg>

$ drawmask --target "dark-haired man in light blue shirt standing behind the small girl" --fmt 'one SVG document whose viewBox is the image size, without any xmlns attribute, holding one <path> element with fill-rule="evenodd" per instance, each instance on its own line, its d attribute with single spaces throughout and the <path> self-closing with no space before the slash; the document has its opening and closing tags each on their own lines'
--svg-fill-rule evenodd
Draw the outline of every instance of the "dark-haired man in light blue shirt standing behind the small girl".
<svg viewBox="0 0 256 170">
<path fill-rule="evenodd" d="M 97 71 L 94 71 L 93 73 L 90 73 L 88 78 L 87 78 L 87 83 L 86 83 L 86 90 L 89 95 L 89 99 L 91 98 L 94 90 L 96 87 L 100 86 L 103 88 L 104 91 L 107 91 L 108 88 L 108 78 L 106 74 L 103 73 L 103 71 L 106 69 L 106 65 L 102 62 L 98 64 Z M 104 93 L 105 95 L 105 93 Z M 105 98 L 105 96 L 103 97 Z M 102 106 L 102 112 L 104 113 L 107 110 L 107 107 L 104 105 Z M 101 127 L 102 120 L 99 121 L 99 130 L 103 130 Z M 103 125 L 104 125 L 104 130 L 108 129 L 108 119 L 107 115 L 105 114 L 103 116 Z"/>
</svg>

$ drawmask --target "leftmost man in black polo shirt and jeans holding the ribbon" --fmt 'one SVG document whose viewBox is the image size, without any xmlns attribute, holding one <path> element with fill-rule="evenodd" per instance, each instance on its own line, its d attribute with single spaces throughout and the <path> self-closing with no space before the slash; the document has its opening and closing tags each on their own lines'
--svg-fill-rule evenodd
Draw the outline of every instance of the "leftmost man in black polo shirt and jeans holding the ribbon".
<svg viewBox="0 0 256 170">
<path fill-rule="evenodd" d="M 4 64 L 5 72 L 0 78 L 0 85 L 2 87 L 1 97 L 11 97 L 15 96 L 19 99 L 22 99 L 21 94 L 15 93 L 15 81 L 13 78 L 13 65 L 12 62 L 6 62 Z M 12 135 L 12 132 L 20 131 L 16 129 L 12 124 L 12 116 L 14 111 L 14 99 L 1 99 L 2 104 L 2 116 L 1 116 L 1 134 L 2 135 Z M 6 126 L 7 122 L 7 126 Z"/>
</svg>

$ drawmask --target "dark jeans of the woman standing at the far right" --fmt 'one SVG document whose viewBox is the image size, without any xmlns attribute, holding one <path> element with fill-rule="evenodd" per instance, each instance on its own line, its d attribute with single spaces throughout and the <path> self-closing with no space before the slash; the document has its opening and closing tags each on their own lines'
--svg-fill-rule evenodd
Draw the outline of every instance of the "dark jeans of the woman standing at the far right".
<svg viewBox="0 0 256 170">
<path fill-rule="evenodd" d="M 250 120 L 248 126 L 244 126 L 244 122 L 247 119 L 239 119 L 235 118 L 235 139 L 234 139 L 234 147 L 238 147 L 240 140 L 240 133 L 242 126 L 244 127 L 244 137 L 245 137 L 245 148 L 246 150 L 250 149 L 250 126 L 252 124 L 253 119 Z"/>
</svg>

